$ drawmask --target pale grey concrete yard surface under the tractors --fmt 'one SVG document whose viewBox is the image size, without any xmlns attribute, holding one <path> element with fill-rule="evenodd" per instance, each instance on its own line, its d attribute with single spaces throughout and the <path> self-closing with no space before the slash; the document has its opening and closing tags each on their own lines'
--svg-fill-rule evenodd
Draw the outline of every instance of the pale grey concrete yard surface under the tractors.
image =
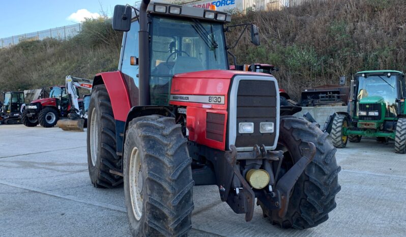
<svg viewBox="0 0 406 237">
<path fill-rule="evenodd" d="M 327 222 L 281 229 L 257 206 L 251 222 L 194 187 L 189 236 L 405 236 L 406 155 L 393 142 L 362 140 L 336 153 L 341 191 Z M 123 188 L 92 186 L 86 133 L 0 126 L 0 236 L 127 236 Z"/>
</svg>

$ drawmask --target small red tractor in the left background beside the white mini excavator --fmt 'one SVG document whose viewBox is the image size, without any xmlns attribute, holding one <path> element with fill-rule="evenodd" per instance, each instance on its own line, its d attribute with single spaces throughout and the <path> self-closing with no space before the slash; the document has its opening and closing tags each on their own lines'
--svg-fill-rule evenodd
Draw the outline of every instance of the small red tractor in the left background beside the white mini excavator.
<svg viewBox="0 0 406 237">
<path fill-rule="evenodd" d="M 49 87 L 49 90 L 49 98 L 34 100 L 30 105 L 25 106 L 22 113 L 22 123 L 25 126 L 35 127 L 40 124 L 42 127 L 51 128 L 60 117 L 68 116 L 71 103 L 66 87 L 55 85 Z M 82 103 L 81 99 L 80 103 Z"/>
</svg>

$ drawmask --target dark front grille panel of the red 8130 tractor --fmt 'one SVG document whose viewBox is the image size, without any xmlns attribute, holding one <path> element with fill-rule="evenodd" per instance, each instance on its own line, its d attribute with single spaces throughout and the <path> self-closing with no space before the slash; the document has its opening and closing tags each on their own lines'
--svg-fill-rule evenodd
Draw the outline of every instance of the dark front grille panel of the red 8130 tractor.
<svg viewBox="0 0 406 237">
<path fill-rule="evenodd" d="M 260 133 L 259 123 L 273 122 L 278 126 L 277 90 L 270 80 L 241 80 L 237 91 L 237 136 L 236 147 L 253 147 L 255 144 L 272 146 L 276 138 L 273 133 Z M 238 125 L 242 122 L 254 123 L 254 133 L 240 134 Z"/>
</svg>

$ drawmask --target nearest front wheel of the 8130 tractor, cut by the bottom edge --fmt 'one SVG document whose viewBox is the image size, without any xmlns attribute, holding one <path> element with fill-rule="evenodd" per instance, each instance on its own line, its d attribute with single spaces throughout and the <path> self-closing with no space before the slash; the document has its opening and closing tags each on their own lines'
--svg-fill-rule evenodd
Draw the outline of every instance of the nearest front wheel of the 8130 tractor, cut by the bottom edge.
<svg viewBox="0 0 406 237">
<path fill-rule="evenodd" d="M 175 119 L 133 119 L 124 145 L 124 195 L 133 236 L 186 236 L 193 210 L 192 159 Z"/>
</svg>

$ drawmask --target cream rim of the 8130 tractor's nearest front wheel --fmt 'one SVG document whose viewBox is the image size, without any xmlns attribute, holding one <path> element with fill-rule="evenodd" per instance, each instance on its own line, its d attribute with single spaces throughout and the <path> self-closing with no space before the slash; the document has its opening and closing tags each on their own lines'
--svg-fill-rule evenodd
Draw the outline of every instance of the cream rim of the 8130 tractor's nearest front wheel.
<svg viewBox="0 0 406 237">
<path fill-rule="evenodd" d="M 137 147 L 133 147 L 130 155 L 129 186 L 132 213 L 137 221 L 142 216 L 142 179 L 141 179 L 141 162 Z"/>
</svg>

